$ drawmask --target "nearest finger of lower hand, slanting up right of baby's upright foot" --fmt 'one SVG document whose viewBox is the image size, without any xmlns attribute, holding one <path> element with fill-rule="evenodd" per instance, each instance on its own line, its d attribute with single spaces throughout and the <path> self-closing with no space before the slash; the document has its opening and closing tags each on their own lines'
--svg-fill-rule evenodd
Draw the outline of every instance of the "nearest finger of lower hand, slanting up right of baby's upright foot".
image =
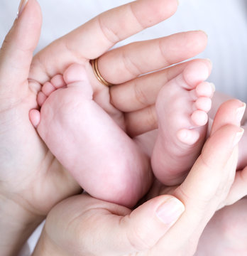
<svg viewBox="0 0 247 256">
<path fill-rule="evenodd" d="M 209 137 L 192 171 L 180 186 L 180 190 L 187 194 L 188 198 L 197 198 L 204 202 L 212 199 L 223 177 L 225 166 L 234 154 L 242 134 L 240 127 L 227 124 Z M 236 160 L 233 169 L 236 169 Z M 194 183 L 195 180 L 197 183 Z"/>
</svg>

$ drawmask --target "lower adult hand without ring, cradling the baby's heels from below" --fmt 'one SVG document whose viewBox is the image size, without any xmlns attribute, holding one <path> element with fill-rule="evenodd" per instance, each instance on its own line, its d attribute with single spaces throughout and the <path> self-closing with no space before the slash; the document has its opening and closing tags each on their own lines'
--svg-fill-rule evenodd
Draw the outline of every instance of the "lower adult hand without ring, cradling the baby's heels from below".
<svg viewBox="0 0 247 256">
<path fill-rule="evenodd" d="M 133 211 L 87 195 L 62 201 L 50 211 L 33 255 L 193 255 L 229 194 L 243 196 L 236 185 L 246 179 L 234 180 L 243 134 L 239 107 L 238 100 L 221 106 L 202 154 L 179 187 L 155 183 L 152 199 Z"/>
</svg>

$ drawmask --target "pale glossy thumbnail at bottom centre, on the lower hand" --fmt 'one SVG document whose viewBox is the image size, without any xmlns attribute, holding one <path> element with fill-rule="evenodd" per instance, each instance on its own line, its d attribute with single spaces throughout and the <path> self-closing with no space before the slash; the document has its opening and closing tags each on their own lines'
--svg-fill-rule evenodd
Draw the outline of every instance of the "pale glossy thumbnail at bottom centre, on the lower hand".
<svg viewBox="0 0 247 256">
<path fill-rule="evenodd" d="M 182 202 L 177 198 L 170 198 L 156 210 L 156 215 L 163 223 L 172 226 L 184 211 Z"/>
</svg>

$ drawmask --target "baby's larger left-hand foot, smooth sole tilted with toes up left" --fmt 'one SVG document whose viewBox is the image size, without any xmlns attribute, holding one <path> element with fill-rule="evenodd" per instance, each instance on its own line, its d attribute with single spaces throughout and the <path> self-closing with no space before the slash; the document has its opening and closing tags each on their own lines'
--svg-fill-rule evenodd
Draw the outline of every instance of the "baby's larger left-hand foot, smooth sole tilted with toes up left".
<svg viewBox="0 0 247 256">
<path fill-rule="evenodd" d="M 84 67 L 71 65 L 43 85 L 31 122 L 82 188 L 131 207 L 150 186 L 148 161 L 92 97 Z"/>
</svg>

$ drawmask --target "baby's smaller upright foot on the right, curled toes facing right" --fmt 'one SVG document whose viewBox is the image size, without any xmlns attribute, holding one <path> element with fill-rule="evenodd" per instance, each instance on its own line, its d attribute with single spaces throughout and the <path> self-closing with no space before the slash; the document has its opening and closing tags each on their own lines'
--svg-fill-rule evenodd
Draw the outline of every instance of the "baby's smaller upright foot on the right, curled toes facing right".
<svg viewBox="0 0 247 256">
<path fill-rule="evenodd" d="M 155 176 L 166 185 L 180 183 L 201 151 L 214 93 L 214 86 L 204 82 L 208 76 L 207 65 L 197 61 L 159 92 L 158 138 L 151 160 Z"/>
</svg>

